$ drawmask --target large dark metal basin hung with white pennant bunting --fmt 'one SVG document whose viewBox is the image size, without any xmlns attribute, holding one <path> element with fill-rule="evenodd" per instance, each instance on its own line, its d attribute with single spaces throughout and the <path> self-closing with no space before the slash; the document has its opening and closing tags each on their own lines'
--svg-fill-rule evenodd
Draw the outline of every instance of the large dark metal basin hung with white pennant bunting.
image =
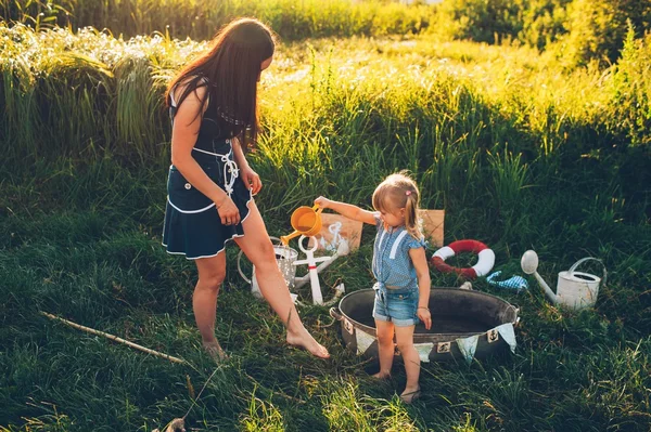
<svg viewBox="0 0 651 432">
<path fill-rule="evenodd" d="M 368 358 L 378 356 L 372 317 L 374 296 L 373 289 L 350 292 L 340 301 L 339 309 L 330 310 L 330 314 L 341 322 L 344 344 Z M 430 312 L 432 328 L 426 330 L 422 324 L 417 325 L 413 343 L 417 348 L 420 345 L 421 352 L 423 349 L 429 351 L 427 357 L 432 362 L 468 359 L 468 353 L 460 350 L 457 341 L 475 335 L 478 336 L 473 353 L 476 358 L 513 348 L 500 333 L 503 335 L 505 327 L 512 331 L 519 310 L 498 297 L 459 288 L 432 288 Z M 370 345 L 369 338 L 373 339 Z M 368 348 L 359 349 L 358 341 L 365 341 Z"/>
</svg>

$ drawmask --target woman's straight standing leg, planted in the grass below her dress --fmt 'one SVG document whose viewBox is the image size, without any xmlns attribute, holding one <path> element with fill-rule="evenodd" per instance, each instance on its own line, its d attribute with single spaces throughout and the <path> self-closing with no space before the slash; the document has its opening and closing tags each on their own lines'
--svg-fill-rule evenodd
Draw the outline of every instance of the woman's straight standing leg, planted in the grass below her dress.
<svg viewBox="0 0 651 432">
<path fill-rule="evenodd" d="M 215 338 L 215 315 L 217 312 L 217 294 L 226 277 L 226 253 L 216 257 L 200 258 L 195 261 L 199 282 L 192 294 L 194 319 L 206 351 L 215 357 L 225 357 L 224 351 Z"/>
</svg>

